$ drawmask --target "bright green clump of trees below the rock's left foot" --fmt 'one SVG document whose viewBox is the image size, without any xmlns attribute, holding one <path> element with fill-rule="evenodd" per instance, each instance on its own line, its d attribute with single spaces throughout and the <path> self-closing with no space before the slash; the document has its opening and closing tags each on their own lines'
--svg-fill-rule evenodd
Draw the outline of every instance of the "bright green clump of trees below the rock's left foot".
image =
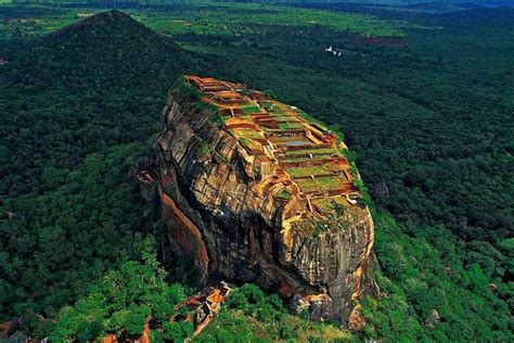
<svg viewBox="0 0 514 343">
<path fill-rule="evenodd" d="M 185 295 L 181 285 L 166 283 L 167 274 L 156 262 L 155 240 L 149 236 L 139 245 L 139 261 L 108 271 L 74 307 L 61 309 L 50 333 L 53 341 L 93 340 L 121 331 L 138 338 L 151 318 L 162 322 L 164 336 L 184 339 L 192 333 L 190 323 L 168 322 L 174 306 Z"/>
</svg>

